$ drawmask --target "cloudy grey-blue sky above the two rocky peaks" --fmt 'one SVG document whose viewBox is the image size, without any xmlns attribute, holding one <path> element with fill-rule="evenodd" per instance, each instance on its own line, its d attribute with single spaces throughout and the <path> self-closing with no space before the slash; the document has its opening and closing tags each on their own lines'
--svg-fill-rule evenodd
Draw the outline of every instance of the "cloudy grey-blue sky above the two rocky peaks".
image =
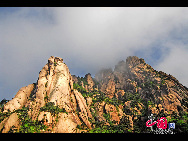
<svg viewBox="0 0 188 141">
<path fill-rule="evenodd" d="M 188 87 L 188 8 L 0 8 L 0 100 L 37 82 L 50 56 L 94 77 L 133 55 Z"/>
</svg>

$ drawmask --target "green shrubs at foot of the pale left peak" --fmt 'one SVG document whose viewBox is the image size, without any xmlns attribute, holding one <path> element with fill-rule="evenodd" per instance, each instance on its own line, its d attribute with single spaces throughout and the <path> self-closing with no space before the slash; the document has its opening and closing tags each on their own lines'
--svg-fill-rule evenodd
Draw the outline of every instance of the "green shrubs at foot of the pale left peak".
<svg viewBox="0 0 188 141">
<path fill-rule="evenodd" d="M 14 128 L 13 126 L 9 133 L 41 133 L 51 130 L 47 125 L 44 125 L 44 119 L 41 121 L 38 119 L 32 120 L 28 115 L 29 110 L 32 112 L 32 109 L 23 106 L 22 109 L 15 110 L 13 112 L 0 112 L 0 122 L 3 121 L 6 117 L 10 116 L 12 113 L 17 113 L 20 123 L 19 128 Z M 53 102 L 46 103 L 45 106 L 40 108 L 40 111 L 50 112 L 52 116 L 56 117 L 55 123 L 58 121 L 58 114 L 60 112 L 68 114 L 65 109 L 61 109 L 59 106 L 55 106 Z M 54 126 L 55 123 L 52 123 L 52 126 Z"/>
</svg>

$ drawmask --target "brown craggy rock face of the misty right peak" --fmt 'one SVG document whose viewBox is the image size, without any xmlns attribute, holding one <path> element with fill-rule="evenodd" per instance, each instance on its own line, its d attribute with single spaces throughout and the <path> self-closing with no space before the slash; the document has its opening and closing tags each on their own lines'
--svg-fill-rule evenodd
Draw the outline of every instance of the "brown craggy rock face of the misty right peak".
<svg viewBox="0 0 188 141">
<path fill-rule="evenodd" d="M 110 98 L 119 95 L 119 90 L 139 94 L 139 98 L 161 105 L 166 113 L 187 112 L 187 88 L 171 75 L 154 70 L 144 59 L 136 56 L 119 62 L 114 71 L 101 70 L 95 76 L 101 91 Z M 158 108 L 158 107 L 157 107 Z M 160 110 L 151 109 L 153 112 Z"/>
</svg>

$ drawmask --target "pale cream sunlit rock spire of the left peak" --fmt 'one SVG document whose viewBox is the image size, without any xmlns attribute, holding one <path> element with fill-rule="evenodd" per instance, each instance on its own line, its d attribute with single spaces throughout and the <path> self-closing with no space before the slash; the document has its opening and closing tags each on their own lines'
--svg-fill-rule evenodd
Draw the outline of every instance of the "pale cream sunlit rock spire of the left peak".
<svg viewBox="0 0 188 141">
<path fill-rule="evenodd" d="M 41 108 L 45 107 L 47 103 L 53 103 L 54 107 L 58 106 L 66 113 L 60 113 L 58 117 L 55 117 L 57 115 L 53 117 L 52 113 L 48 112 L 49 110 L 41 111 Z M 76 127 L 81 123 L 91 128 L 88 117 L 92 118 L 92 116 L 86 101 L 80 92 L 73 89 L 69 69 L 63 63 L 63 59 L 59 57 L 51 56 L 40 71 L 37 83 L 21 88 L 16 96 L 4 105 L 3 112 L 14 112 L 23 106 L 29 107 L 28 115 L 32 120 L 42 121 L 45 119 L 49 126 L 58 118 L 59 120 L 51 132 L 77 132 Z M 6 124 L 9 123 L 1 124 L 1 128 Z M 10 126 L 5 126 L 2 132 L 7 132 L 8 129 Z"/>
</svg>

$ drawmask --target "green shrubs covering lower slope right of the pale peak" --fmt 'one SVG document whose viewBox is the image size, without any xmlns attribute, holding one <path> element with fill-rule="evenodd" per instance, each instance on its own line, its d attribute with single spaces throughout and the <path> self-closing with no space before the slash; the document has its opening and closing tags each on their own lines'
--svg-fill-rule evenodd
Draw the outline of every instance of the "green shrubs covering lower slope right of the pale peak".
<svg viewBox="0 0 188 141">
<path fill-rule="evenodd" d="M 159 87 L 163 87 L 165 85 L 164 79 L 162 79 L 161 84 Z M 94 86 L 95 87 L 95 86 Z M 145 83 L 141 84 L 142 88 L 146 88 L 147 90 L 150 90 L 151 88 L 155 87 L 155 83 L 148 79 Z M 130 129 L 130 122 L 128 120 L 127 116 L 124 116 L 119 124 L 116 124 L 115 121 L 112 121 L 109 113 L 105 113 L 103 117 L 106 119 L 106 121 L 98 121 L 95 120 L 96 118 L 96 111 L 92 111 L 93 119 L 91 119 L 91 123 L 93 124 L 93 129 L 88 130 L 90 133 L 150 133 L 151 129 L 146 127 L 146 122 L 148 120 L 148 115 L 151 114 L 151 110 L 149 106 L 158 107 L 158 104 L 156 104 L 155 97 L 148 96 L 148 98 L 142 98 L 142 96 L 138 93 L 131 93 L 126 92 L 123 97 L 117 98 L 109 98 L 107 97 L 103 92 L 100 90 L 94 90 L 92 92 L 86 91 L 85 88 L 83 88 L 78 83 L 74 83 L 74 89 L 77 89 L 79 92 L 82 93 L 84 98 L 91 97 L 92 98 L 92 105 L 91 107 L 94 107 L 94 104 L 97 102 L 105 102 L 107 104 L 112 104 L 118 108 L 119 105 L 123 106 L 123 112 L 125 115 L 132 116 L 133 119 L 133 130 Z M 124 103 L 127 101 L 131 101 L 130 107 L 124 106 Z M 142 105 L 141 107 L 139 106 Z M 141 114 L 138 114 L 135 109 L 135 107 L 140 110 Z M 94 108 L 93 108 L 94 109 Z M 186 112 L 179 112 L 179 114 L 173 112 L 173 114 L 167 114 L 164 113 L 164 110 L 161 110 L 157 115 L 154 114 L 154 117 L 156 119 L 159 119 L 160 117 L 166 117 L 168 123 L 175 123 L 175 133 L 188 133 L 188 118 L 187 118 Z M 86 126 L 78 126 L 79 129 L 85 129 Z"/>
</svg>

